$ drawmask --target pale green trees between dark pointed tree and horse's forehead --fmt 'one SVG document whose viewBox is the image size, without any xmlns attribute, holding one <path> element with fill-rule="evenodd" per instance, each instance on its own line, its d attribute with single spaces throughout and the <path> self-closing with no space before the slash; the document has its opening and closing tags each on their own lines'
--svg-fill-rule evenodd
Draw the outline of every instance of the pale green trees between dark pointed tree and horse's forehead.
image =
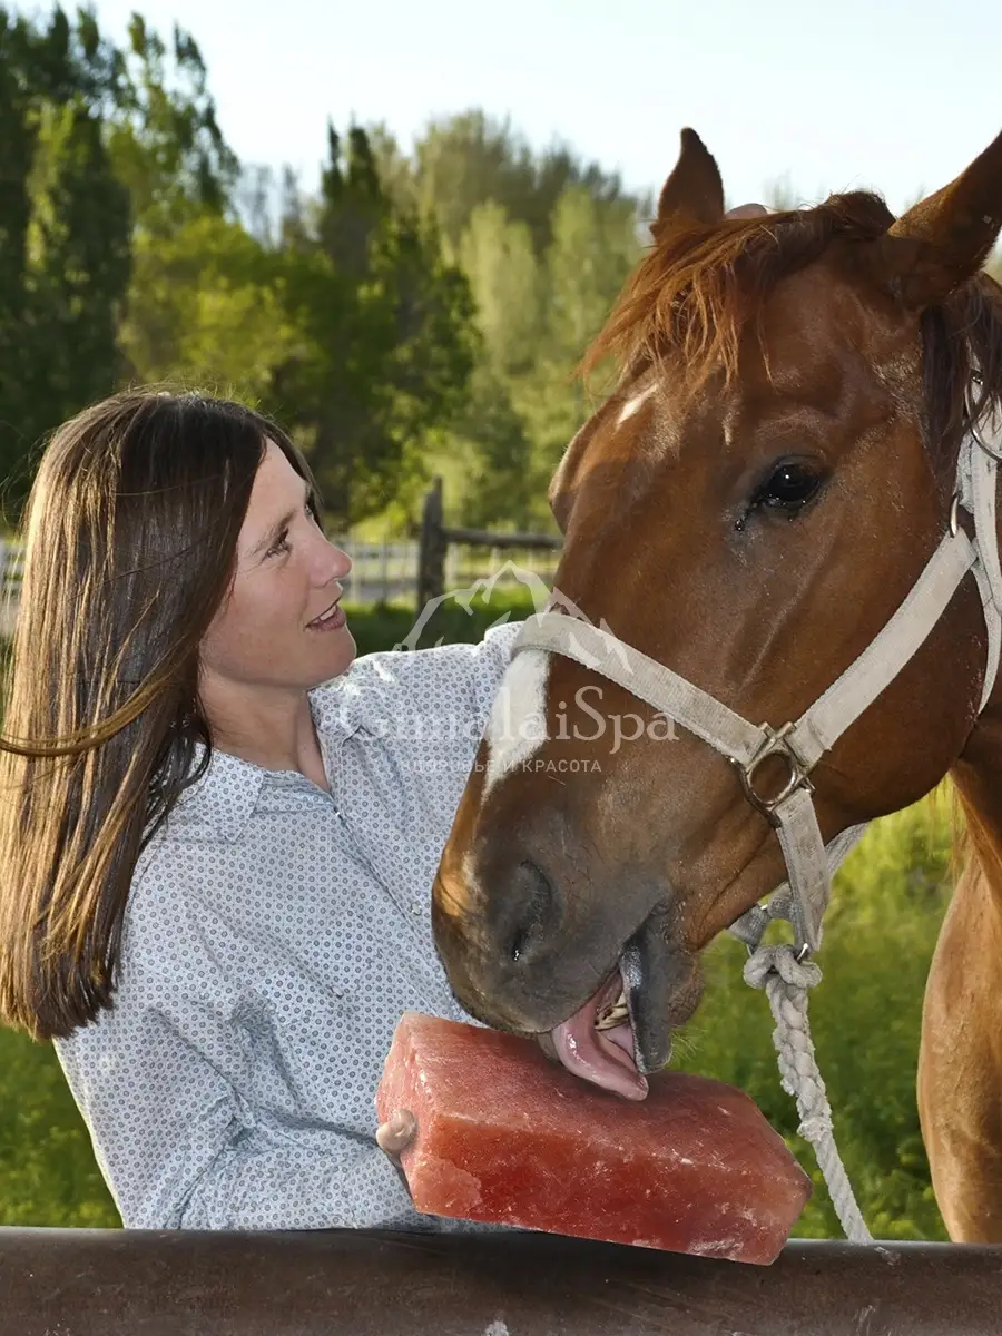
<svg viewBox="0 0 1002 1336">
<path fill-rule="evenodd" d="M 554 530 L 546 486 L 592 410 L 574 367 L 640 255 L 648 202 L 564 148 L 534 156 L 481 114 L 433 124 L 411 164 L 383 132 L 378 160 L 438 219 L 482 335 L 468 403 L 426 472 L 449 478 L 465 524 Z"/>
</svg>

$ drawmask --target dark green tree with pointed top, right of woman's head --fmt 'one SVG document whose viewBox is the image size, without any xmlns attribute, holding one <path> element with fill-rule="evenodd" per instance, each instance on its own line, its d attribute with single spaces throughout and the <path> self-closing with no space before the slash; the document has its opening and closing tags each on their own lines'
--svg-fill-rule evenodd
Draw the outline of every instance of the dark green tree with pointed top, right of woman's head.
<svg viewBox="0 0 1002 1336">
<path fill-rule="evenodd" d="M 275 367 L 273 399 L 345 526 L 418 485 L 424 448 L 464 403 L 477 337 L 465 277 L 434 224 L 382 190 L 366 132 L 353 128 L 342 154 L 331 130 L 329 146 L 321 199 L 287 255 L 303 339 Z"/>
</svg>

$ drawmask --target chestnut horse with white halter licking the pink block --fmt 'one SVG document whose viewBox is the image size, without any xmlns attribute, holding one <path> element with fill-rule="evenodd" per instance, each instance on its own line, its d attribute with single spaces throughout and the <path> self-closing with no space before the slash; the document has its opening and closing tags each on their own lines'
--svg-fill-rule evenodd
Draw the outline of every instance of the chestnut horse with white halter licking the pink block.
<svg viewBox="0 0 1002 1336">
<path fill-rule="evenodd" d="M 1002 289 L 983 265 L 999 230 L 1002 135 L 896 219 L 867 191 L 735 218 L 683 131 L 652 244 L 582 363 L 619 374 L 549 486 L 550 633 L 516 645 L 432 898 L 473 1017 L 643 1098 L 716 934 L 949 775 L 966 866 L 927 981 L 919 1116 L 951 1238 L 991 1242 L 1002 578 L 983 432 L 1002 421 Z M 962 466 L 981 469 L 977 505 Z M 804 747 L 832 683 L 854 712 Z M 799 903 L 803 957 L 819 906 Z"/>
</svg>

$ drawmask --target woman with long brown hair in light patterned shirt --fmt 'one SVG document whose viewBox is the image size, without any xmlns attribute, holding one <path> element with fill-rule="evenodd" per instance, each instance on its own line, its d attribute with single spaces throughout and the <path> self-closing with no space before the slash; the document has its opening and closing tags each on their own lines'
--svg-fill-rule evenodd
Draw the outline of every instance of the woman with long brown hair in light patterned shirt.
<svg viewBox="0 0 1002 1336">
<path fill-rule="evenodd" d="M 41 460 L 0 1015 L 56 1041 L 127 1226 L 445 1228 L 373 1094 L 402 1011 L 461 1014 L 428 894 L 517 627 L 353 664 L 349 569 L 239 405 L 116 395 Z"/>
</svg>

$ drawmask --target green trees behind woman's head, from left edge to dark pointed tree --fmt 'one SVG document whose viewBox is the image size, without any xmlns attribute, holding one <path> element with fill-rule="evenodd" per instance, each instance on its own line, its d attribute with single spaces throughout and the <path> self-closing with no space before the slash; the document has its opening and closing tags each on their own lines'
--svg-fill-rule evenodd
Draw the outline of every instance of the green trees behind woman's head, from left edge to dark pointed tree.
<svg viewBox="0 0 1002 1336">
<path fill-rule="evenodd" d="M 279 228 L 255 235 L 234 208 L 238 163 L 195 41 L 176 28 L 164 41 L 134 15 L 118 49 L 92 15 L 73 25 L 59 9 L 47 27 L 0 11 L 0 476 L 13 512 L 45 433 L 130 381 L 275 411 L 338 529 L 413 501 L 480 341 L 434 220 L 383 191 L 362 128 L 345 151 L 331 131 L 321 198 L 290 184 Z"/>
</svg>

